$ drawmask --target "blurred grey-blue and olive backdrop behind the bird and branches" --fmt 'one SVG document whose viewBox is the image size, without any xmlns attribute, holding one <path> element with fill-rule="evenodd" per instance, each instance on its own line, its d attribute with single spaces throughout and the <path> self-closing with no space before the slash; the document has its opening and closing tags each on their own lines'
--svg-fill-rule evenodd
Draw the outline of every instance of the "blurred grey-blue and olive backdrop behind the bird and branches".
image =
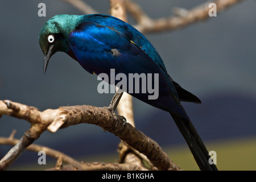
<svg viewBox="0 0 256 182">
<path fill-rule="evenodd" d="M 46 17 L 38 4 L 46 4 Z M 86 0 L 101 14 L 109 14 L 109 1 Z M 203 0 L 135 1 L 151 18 L 170 16 L 174 7 L 192 9 Z M 255 170 L 256 163 L 256 2 L 238 3 L 216 17 L 176 31 L 144 34 L 158 50 L 168 73 L 202 101 L 184 103 L 209 151 L 216 151 L 221 170 Z M 65 53 L 56 53 L 43 74 L 43 53 L 38 35 L 56 14 L 82 13 L 52 0 L 0 2 L 0 100 L 11 100 L 39 110 L 60 106 L 108 106 L 113 94 L 99 94 L 96 75 L 90 75 Z M 130 23 L 134 22 L 129 19 Z M 182 169 L 198 170 L 185 140 L 170 114 L 134 98 L 138 130 L 156 140 Z M 20 138 L 27 121 L 2 115 L 0 137 L 17 130 Z M 84 162 L 116 162 L 118 137 L 94 125 L 76 125 L 52 134 L 46 131 L 36 144 L 53 148 Z M 0 146 L 2 158 L 11 146 Z M 56 160 L 47 157 L 39 166 L 36 152 L 24 152 L 10 170 L 47 169 Z"/>
</svg>

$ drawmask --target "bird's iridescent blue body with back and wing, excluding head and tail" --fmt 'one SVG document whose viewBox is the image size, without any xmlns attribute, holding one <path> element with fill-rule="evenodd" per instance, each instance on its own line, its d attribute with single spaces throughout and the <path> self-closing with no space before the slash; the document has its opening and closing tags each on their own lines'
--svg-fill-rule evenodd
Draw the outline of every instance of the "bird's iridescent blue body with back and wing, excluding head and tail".
<svg viewBox="0 0 256 182">
<path fill-rule="evenodd" d="M 129 24 L 106 16 L 85 16 L 69 34 L 69 46 L 81 66 L 90 73 L 158 73 L 159 97 L 130 93 L 152 106 L 183 117 L 183 108 L 162 59 L 144 36 Z M 153 60 L 154 59 L 154 60 Z"/>
</svg>

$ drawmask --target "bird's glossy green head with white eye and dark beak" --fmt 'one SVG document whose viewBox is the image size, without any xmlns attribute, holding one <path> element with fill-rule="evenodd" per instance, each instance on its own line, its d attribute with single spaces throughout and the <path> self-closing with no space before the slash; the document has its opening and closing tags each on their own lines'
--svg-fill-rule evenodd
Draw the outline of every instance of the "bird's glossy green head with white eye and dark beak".
<svg viewBox="0 0 256 182">
<path fill-rule="evenodd" d="M 51 56 L 56 52 L 69 52 L 68 35 L 80 20 L 79 15 L 55 15 L 44 24 L 39 44 L 44 53 L 44 73 Z"/>
</svg>

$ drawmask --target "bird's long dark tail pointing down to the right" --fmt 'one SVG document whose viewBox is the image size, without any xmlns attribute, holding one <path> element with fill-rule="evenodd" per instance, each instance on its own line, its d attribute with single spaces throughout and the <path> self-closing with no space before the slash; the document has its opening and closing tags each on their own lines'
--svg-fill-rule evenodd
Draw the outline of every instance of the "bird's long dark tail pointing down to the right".
<svg viewBox="0 0 256 182">
<path fill-rule="evenodd" d="M 218 171 L 214 164 L 209 164 L 210 156 L 207 148 L 204 146 L 192 122 L 189 119 L 183 119 L 174 114 L 171 114 L 171 116 L 185 138 L 199 168 L 203 171 Z"/>
</svg>

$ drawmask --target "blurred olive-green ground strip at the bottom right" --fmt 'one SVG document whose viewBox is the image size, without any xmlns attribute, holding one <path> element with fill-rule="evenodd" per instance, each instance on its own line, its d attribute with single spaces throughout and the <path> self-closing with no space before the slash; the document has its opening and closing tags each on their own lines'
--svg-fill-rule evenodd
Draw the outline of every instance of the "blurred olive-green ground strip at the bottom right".
<svg viewBox="0 0 256 182">
<path fill-rule="evenodd" d="M 256 138 L 233 139 L 207 143 L 209 151 L 216 151 L 219 170 L 256 170 Z M 170 158 L 184 170 L 198 170 L 188 147 L 166 150 Z"/>
</svg>

